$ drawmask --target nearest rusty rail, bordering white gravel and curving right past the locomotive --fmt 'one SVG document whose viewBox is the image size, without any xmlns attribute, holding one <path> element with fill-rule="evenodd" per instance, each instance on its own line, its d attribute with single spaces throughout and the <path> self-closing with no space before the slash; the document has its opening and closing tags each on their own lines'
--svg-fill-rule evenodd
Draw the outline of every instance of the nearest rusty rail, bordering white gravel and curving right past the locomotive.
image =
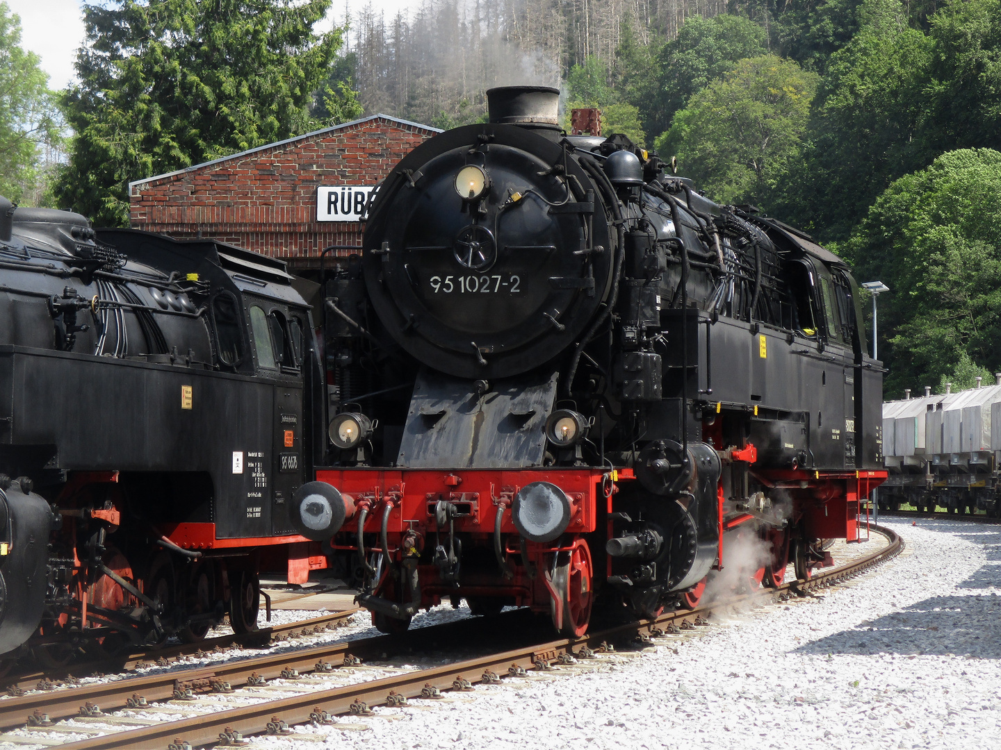
<svg viewBox="0 0 1001 750">
<path fill-rule="evenodd" d="M 407 698 L 418 698 L 428 686 L 438 690 L 449 690 L 457 687 L 461 684 L 459 678 L 464 679 L 469 684 L 482 682 L 486 677 L 486 672 L 505 676 L 509 674 L 509 669 L 519 667 L 526 670 L 530 668 L 552 669 L 551 663 L 562 655 L 581 658 L 588 654 L 584 647 L 588 647 L 591 651 L 597 651 L 603 649 L 605 643 L 610 640 L 641 639 L 641 645 L 651 645 L 650 637 L 664 635 L 665 627 L 671 630 L 672 626 L 678 628 L 680 625 L 682 629 L 692 629 L 697 624 L 708 624 L 705 616 L 711 614 L 713 609 L 765 598 L 776 601 L 778 597 L 788 595 L 789 592 L 807 595 L 809 591 L 831 586 L 838 581 L 859 575 L 874 565 L 886 562 L 903 550 L 903 540 L 892 529 L 879 526 L 871 528 L 885 535 L 888 539 L 888 544 L 876 552 L 837 568 L 822 570 L 807 580 L 791 581 L 777 589 L 769 589 L 768 593 L 756 592 L 728 600 L 722 607 L 703 607 L 691 611 L 671 612 L 653 620 L 619 625 L 581 638 L 528 645 L 416 672 L 317 690 L 273 701 L 262 701 L 251 706 L 232 708 L 190 719 L 158 722 L 148 727 L 66 743 L 61 747 L 63 750 L 166 747 L 175 739 L 186 741 L 192 747 L 211 745 L 218 743 L 220 734 L 229 731 L 230 727 L 238 730 L 243 736 L 264 734 L 268 731 L 268 724 L 272 723 L 276 716 L 288 725 L 304 724 L 312 720 L 317 709 L 334 715 L 349 713 L 351 704 L 356 701 L 364 702 L 369 706 L 391 705 L 390 692 Z M 110 723 L 113 723 L 113 718 L 110 719 Z M 66 731 L 71 731 L 71 729 Z"/>
</svg>

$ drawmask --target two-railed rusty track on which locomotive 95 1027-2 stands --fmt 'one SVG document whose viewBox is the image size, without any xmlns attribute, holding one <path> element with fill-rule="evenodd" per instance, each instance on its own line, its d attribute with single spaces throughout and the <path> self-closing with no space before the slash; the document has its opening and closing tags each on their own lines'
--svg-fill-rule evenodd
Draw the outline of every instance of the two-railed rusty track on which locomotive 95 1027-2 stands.
<svg viewBox="0 0 1001 750">
<path fill-rule="evenodd" d="M 410 631 L 403 638 L 380 636 L 287 654 L 229 662 L 149 678 L 134 678 L 105 685 L 58 691 L 36 698 L 24 696 L 0 702 L 0 728 L 29 726 L 0 735 L 0 741 L 55 745 L 65 750 L 84 748 L 185 748 L 238 744 L 242 737 L 287 734 L 289 727 L 312 724 L 323 727 L 338 715 L 367 715 L 372 706 L 398 706 L 406 699 L 433 700 L 442 691 L 466 691 L 477 683 L 517 679 L 531 671 L 572 671 L 579 662 L 609 658 L 615 648 L 655 645 L 663 638 L 709 625 L 714 610 L 720 613 L 748 602 L 767 603 L 807 596 L 886 562 L 903 549 L 891 529 L 872 527 L 888 544 L 845 565 L 816 572 L 808 580 L 791 581 L 736 597 L 723 605 L 670 612 L 654 620 L 600 628 L 578 639 L 539 641 L 528 638 L 532 617 L 524 610 L 477 621 L 467 621 Z M 461 634 L 474 630 L 476 642 L 504 638 L 508 648 L 487 655 L 473 655 L 454 662 L 418 668 L 412 665 L 371 665 L 390 654 L 415 653 L 437 643 L 449 650 L 461 643 Z M 511 637 L 524 642 L 514 647 Z M 166 698 L 162 704 L 153 701 Z M 30 699 L 30 700 L 29 700 Z M 131 704 L 131 705 L 129 705 Z M 111 709 L 119 709 L 110 714 Z M 35 713 L 37 712 L 37 713 Z M 45 714 L 48 714 L 46 717 Z M 184 718 L 157 721 L 155 715 Z M 195 714 L 195 715 L 191 715 Z M 70 719 L 69 717 L 74 717 Z M 60 718 L 69 721 L 53 726 Z M 341 728 L 343 724 L 339 725 Z M 79 737 L 84 737 L 79 739 Z M 309 737 L 296 734 L 299 739 Z M 315 740 L 322 737 L 310 736 Z"/>
</svg>

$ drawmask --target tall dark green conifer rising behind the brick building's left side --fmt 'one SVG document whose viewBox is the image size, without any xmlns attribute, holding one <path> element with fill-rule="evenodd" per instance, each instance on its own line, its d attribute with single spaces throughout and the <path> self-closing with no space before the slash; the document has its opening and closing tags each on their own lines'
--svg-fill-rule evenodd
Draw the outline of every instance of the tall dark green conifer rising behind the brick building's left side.
<svg viewBox="0 0 1001 750">
<path fill-rule="evenodd" d="M 84 6 L 76 131 L 56 194 L 99 224 L 128 218 L 130 180 L 306 132 L 341 30 L 330 0 L 109 0 Z"/>
</svg>

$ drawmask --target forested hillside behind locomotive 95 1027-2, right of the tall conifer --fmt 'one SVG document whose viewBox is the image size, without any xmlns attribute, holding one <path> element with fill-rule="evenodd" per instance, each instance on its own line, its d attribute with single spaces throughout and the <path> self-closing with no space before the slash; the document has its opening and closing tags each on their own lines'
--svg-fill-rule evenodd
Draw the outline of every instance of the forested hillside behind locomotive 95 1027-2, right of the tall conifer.
<svg viewBox="0 0 1001 750">
<path fill-rule="evenodd" d="M 561 86 L 711 197 L 887 283 L 889 396 L 1001 370 L 1001 0 L 427 0 L 347 20 L 340 74 L 367 112 L 449 127 L 490 86 Z"/>
</svg>

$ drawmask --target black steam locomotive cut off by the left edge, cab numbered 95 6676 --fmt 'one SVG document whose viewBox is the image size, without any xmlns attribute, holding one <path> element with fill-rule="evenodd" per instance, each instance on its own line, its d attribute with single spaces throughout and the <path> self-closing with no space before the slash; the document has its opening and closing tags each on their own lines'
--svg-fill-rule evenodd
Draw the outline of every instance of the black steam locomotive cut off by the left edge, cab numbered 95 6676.
<svg viewBox="0 0 1001 750">
<path fill-rule="evenodd" d="M 310 308 L 284 264 L 0 199 L 0 654 L 255 628 L 305 580 L 292 492 L 325 451 Z M 317 417 L 308 406 L 317 405 Z M 315 565 L 314 565 L 315 566 Z"/>
</svg>

